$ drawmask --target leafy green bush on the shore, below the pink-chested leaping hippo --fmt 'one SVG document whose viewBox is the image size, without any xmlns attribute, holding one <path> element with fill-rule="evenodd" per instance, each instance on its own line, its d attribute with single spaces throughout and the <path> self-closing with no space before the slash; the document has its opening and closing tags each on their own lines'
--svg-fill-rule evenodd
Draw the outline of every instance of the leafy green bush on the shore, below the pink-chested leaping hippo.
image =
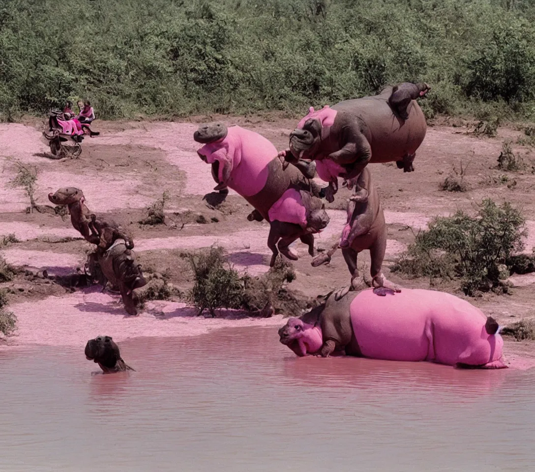
<svg viewBox="0 0 535 472">
<path fill-rule="evenodd" d="M 188 254 L 194 272 L 195 283 L 188 299 L 201 315 L 205 309 L 215 316 L 217 308 L 240 308 L 243 299 L 243 283 L 226 261 L 223 248 Z"/>
</svg>

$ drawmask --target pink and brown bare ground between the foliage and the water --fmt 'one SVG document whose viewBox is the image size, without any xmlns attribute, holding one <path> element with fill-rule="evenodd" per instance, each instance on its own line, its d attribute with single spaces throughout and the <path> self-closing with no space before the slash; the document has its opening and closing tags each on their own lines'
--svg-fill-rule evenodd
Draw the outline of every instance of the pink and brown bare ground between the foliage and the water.
<svg viewBox="0 0 535 472">
<path fill-rule="evenodd" d="M 262 122 L 227 118 L 226 121 L 262 133 L 278 149 L 285 147 L 287 134 L 293 126 L 292 120 Z M 95 124 L 101 135 L 84 140 L 80 158 L 62 162 L 41 156 L 49 149 L 42 138 L 40 126 L 36 120 L 29 125 L 0 124 L 0 158 L 3 162 L 0 174 L 0 235 L 14 233 L 21 241 L 0 250 L 7 262 L 66 274 L 83 263 L 90 249 L 90 245 L 81 240 L 53 241 L 79 236 L 68 219 L 25 214 L 28 197 L 22 189 L 9 186 L 17 172 L 15 163 L 20 162 L 35 165 L 39 170 L 35 193 L 37 203 L 49 204 L 48 193 L 59 187 L 81 188 L 90 209 L 108 213 L 133 234 L 136 254 L 144 267 L 150 264 L 153 270 L 169 269 L 174 284 L 182 283 L 186 289 L 191 285 L 190 276 L 175 263 L 177 253 L 213 243 L 225 248 L 229 260 L 241 272 L 259 275 L 268 270 L 267 262 L 271 255 L 266 246 L 268 224 L 247 222 L 245 216 L 250 207 L 232 191 L 227 197 L 225 211 L 213 210 L 203 200 L 215 184 L 209 166 L 196 154 L 198 145 L 192 135 L 197 124 L 101 121 L 98 126 Z M 517 185 L 513 190 L 479 183 L 487 174 L 495 173 L 490 164 L 499 155 L 502 139 L 510 136 L 514 136 L 514 131 L 504 130 L 498 139 L 475 139 L 460 133 L 457 128 L 429 128 L 418 150 L 414 173 L 403 174 L 395 166 L 388 165 L 370 168 L 380 190 L 388 224 L 385 271 L 389 278 L 406 287 L 429 287 L 429 280 L 406 280 L 389 274 L 388 266 L 414 239 L 414 233 L 425 229 L 435 215 L 448 215 L 457 208 L 473 209 L 473 204 L 490 192 L 495 200 L 522 203 L 524 214 L 533 214 L 535 197 L 531 188 L 535 177 L 531 174 L 516 176 Z M 438 182 L 444 179 L 453 163 L 467 154 L 471 155 L 467 176 L 473 182 L 471 191 L 465 194 L 440 192 Z M 144 208 L 164 190 L 169 191 L 171 196 L 166 214 L 172 220 L 179 221 L 180 215 L 189 211 L 207 215 L 209 220 L 215 217 L 213 219 L 217 223 L 190 222 L 182 229 L 164 225 L 142 227 L 137 220 Z M 343 199 L 345 196 L 341 194 L 340 201 Z M 333 205 L 328 212 L 331 223 L 317 238 L 318 246 L 324 248 L 338 238 L 346 219 L 345 211 Z M 528 229 L 526 252 L 531 252 L 531 247 L 535 246 L 535 222 L 529 220 Z M 327 266 L 311 268 L 305 246 L 300 243 L 294 246 L 300 260 L 295 263 L 297 279 L 292 286 L 309 296 L 316 296 L 347 284 L 349 276 L 341 254 L 337 253 Z M 363 254 L 360 265 L 364 270 L 362 264 L 369 267 L 368 261 L 368 254 Z M 518 287 L 512 296 L 486 294 L 469 301 L 497 317 L 501 324 L 531 316 L 534 301 L 531 289 L 535 276 L 515 275 L 511 281 Z M 19 282 L 2 286 L 17 292 Z M 280 315 L 253 319 L 236 312 L 205 319 L 193 316 L 193 310 L 184 303 L 170 301 L 148 302 L 140 316 L 128 317 L 117 295 L 100 293 L 96 287 L 74 293 L 58 290 L 57 287 L 54 290 L 41 287 L 34 291 L 26 287 L 17 292 L 10 309 L 18 317 L 18 331 L 16 336 L 0 343 L 0 347 L 4 348 L 32 344 L 80 346 L 97 334 L 110 334 L 120 341 L 141 336 L 196 336 L 230 326 L 269 326 L 275 329 L 284 323 Z M 506 340 L 506 352 L 508 360 L 515 366 L 535 365 L 533 343 Z"/>
</svg>

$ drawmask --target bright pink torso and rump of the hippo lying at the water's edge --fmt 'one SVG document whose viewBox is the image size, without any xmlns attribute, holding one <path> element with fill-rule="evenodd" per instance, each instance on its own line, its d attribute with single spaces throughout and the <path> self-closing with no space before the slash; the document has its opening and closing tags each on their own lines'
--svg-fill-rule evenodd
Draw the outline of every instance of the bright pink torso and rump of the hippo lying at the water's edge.
<svg viewBox="0 0 535 472">
<path fill-rule="evenodd" d="M 503 340 L 486 333 L 482 311 L 448 293 L 403 288 L 378 296 L 370 289 L 350 312 L 358 349 L 372 359 L 482 366 L 502 355 Z"/>
</svg>

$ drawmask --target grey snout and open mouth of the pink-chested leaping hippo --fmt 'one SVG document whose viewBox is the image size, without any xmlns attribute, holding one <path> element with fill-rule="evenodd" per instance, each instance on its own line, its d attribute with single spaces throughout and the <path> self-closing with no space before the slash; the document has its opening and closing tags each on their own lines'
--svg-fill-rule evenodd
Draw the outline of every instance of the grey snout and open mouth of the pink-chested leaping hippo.
<svg viewBox="0 0 535 472">
<path fill-rule="evenodd" d="M 212 165 L 212 177 L 218 184 L 214 190 L 226 188 L 233 169 L 234 162 L 231 156 L 226 155 L 226 153 L 221 156 L 216 154 L 217 145 L 227 137 L 227 134 L 228 129 L 223 123 L 201 125 L 193 133 L 193 139 L 196 142 L 205 144 L 205 146 L 197 150 L 197 154 L 204 162 Z M 222 167 L 220 168 L 221 165 Z"/>
</svg>

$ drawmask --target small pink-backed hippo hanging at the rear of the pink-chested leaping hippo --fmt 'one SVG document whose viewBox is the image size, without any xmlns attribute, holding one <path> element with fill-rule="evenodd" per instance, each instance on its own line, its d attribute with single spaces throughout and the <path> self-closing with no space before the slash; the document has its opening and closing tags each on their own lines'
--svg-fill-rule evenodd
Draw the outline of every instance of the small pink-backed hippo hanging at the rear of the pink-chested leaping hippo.
<svg viewBox="0 0 535 472">
<path fill-rule="evenodd" d="M 314 234 L 321 232 L 329 223 L 322 200 L 310 192 L 295 188 L 289 188 L 272 205 L 269 219 L 268 247 L 273 252 L 271 267 L 279 251 L 288 259 L 297 260 L 297 254 L 289 248 L 297 238 L 308 246 L 308 253 L 314 256 Z"/>
</svg>

